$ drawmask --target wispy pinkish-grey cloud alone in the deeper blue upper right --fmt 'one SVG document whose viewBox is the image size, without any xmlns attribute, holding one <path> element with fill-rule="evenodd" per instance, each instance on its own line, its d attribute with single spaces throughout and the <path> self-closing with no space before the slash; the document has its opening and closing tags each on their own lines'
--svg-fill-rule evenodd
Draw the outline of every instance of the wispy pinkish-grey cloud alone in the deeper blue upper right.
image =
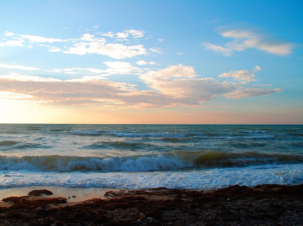
<svg viewBox="0 0 303 226">
<path fill-rule="evenodd" d="M 294 47 L 292 43 L 274 40 L 268 35 L 258 34 L 253 30 L 227 30 L 221 32 L 221 35 L 234 39 L 234 41 L 227 43 L 227 47 L 237 51 L 257 48 L 273 55 L 284 56 L 292 53 Z"/>
</svg>

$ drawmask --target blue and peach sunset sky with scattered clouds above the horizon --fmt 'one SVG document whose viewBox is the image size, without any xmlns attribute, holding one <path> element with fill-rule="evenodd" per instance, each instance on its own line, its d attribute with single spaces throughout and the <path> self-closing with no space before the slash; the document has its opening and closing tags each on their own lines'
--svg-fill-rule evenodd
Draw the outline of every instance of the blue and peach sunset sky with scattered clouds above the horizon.
<svg viewBox="0 0 303 226">
<path fill-rule="evenodd" d="M 0 8 L 0 123 L 303 124 L 302 0 Z"/>
</svg>

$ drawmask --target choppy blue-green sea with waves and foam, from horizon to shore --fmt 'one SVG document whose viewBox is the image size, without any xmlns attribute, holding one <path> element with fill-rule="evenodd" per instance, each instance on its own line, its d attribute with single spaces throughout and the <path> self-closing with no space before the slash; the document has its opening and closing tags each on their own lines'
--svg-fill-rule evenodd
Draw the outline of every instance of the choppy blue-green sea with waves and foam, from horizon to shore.
<svg viewBox="0 0 303 226">
<path fill-rule="evenodd" d="M 0 189 L 303 182 L 303 125 L 0 124 Z"/>
</svg>

